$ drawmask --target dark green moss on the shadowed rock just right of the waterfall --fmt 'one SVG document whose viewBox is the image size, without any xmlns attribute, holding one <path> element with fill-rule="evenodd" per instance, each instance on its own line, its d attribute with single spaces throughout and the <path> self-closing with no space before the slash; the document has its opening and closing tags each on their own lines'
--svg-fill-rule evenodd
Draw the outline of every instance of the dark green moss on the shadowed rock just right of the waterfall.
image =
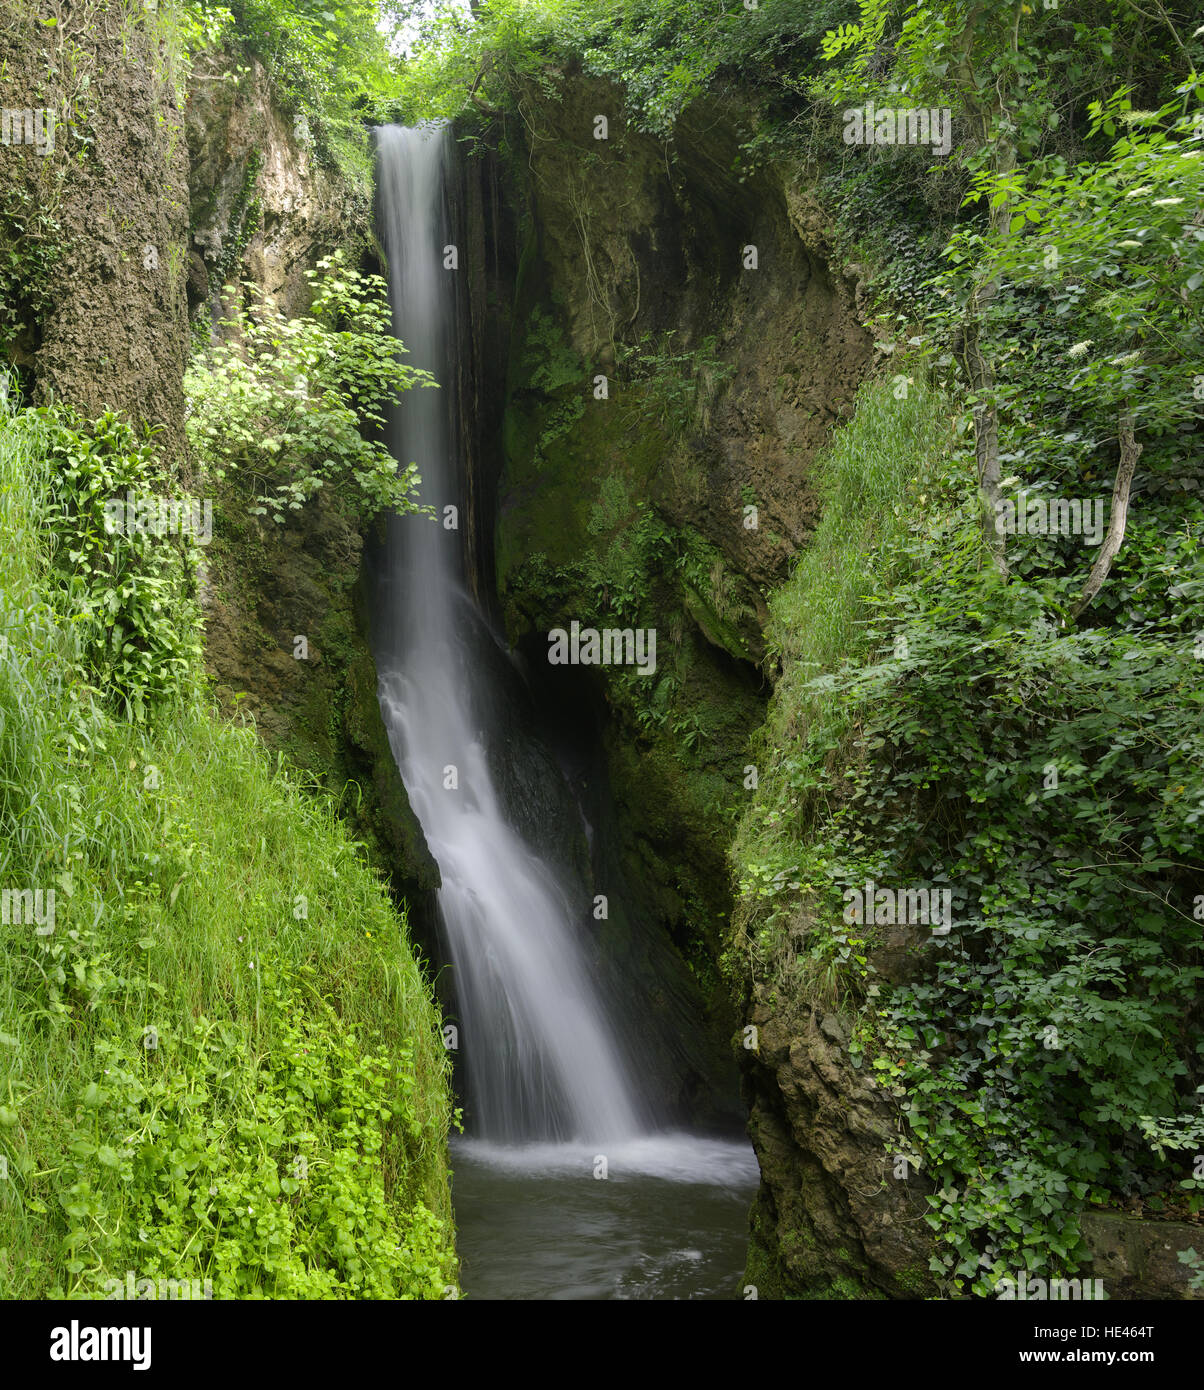
<svg viewBox="0 0 1204 1390">
<path fill-rule="evenodd" d="M 502 431 L 495 556 L 506 632 L 542 646 L 573 620 L 656 631 L 655 676 L 605 667 L 585 677 L 605 710 L 615 869 L 631 892 L 626 906 L 615 899 L 599 937 L 606 959 L 653 998 L 677 988 L 666 970 L 681 972 L 706 1066 L 730 1076 L 737 1020 L 716 959 L 731 908 L 729 824 L 763 717 L 741 632 L 742 623 L 756 632 L 754 609 L 719 550 L 673 518 L 680 446 L 651 423 L 645 388 L 619 389 L 612 374 L 610 398 L 595 399 L 594 366 L 570 346 L 563 307 L 537 297 L 535 264 L 528 250 Z M 649 944 L 651 923 L 676 952 L 672 966 Z"/>
</svg>

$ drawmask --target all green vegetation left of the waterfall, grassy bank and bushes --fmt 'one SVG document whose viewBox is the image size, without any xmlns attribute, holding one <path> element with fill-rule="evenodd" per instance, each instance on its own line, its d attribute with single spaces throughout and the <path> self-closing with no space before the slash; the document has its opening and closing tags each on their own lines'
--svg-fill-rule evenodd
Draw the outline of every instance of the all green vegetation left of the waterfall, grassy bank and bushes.
<svg viewBox="0 0 1204 1390">
<path fill-rule="evenodd" d="M 302 140 L 363 175 L 389 71 L 374 4 L 101 10 L 106 38 L 161 25 L 185 85 L 206 53 L 259 58 Z M 58 54 L 82 164 L 88 25 Z M 0 349 L 26 366 L 71 167 L 39 161 L 0 199 Z M 0 366 L 4 1297 L 106 1297 L 127 1276 L 217 1298 L 456 1290 L 449 1063 L 405 915 L 314 778 L 217 713 L 200 660 L 214 491 L 268 523 L 324 488 L 357 521 L 412 505 L 413 468 L 378 436 L 427 378 L 384 282 L 345 257 L 310 271 L 296 318 L 256 286 L 227 295 L 178 468 L 117 410 L 22 407 Z"/>
</svg>

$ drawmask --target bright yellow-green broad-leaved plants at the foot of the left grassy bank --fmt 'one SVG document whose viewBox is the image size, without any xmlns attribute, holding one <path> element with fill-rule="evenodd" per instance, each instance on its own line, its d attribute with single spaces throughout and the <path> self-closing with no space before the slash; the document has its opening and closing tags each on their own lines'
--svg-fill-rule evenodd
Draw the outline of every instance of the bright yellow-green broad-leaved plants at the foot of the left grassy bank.
<svg viewBox="0 0 1204 1390">
<path fill-rule="evenodd" d="M 263 972 L 257 1008 L 275 1041 L 252 1113 L 236 1026 L 200 1017 L 156 1030 L 154 1048 L 97 1037 L 107 1066 L 79 1098 L 61 1177 L 71 1293 L 136 1264 L 145 1277 L 209 1279 L 215 1298 L 444 1297 L 442 1223 L 421 1201 L 400 1219 L 391 1211 L 399 1134 L 423 1137 L 413 1049 L 364 1048 L 314 976 Z M 127 1131 L 133 1143 L 107 1143 Z M 185 1276 L 181 1251 L 197 1233 L 204 1250 Z"/>
</svg>

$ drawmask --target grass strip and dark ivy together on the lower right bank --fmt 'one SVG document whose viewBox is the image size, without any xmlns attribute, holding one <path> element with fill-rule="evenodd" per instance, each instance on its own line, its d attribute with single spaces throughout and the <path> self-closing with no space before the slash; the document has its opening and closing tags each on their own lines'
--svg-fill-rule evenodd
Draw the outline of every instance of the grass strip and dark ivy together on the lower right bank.
<svg viewBox="0 0 1204 1390">
<path fill-rule="evenodd" d="M 898 463 L 862 502 L 891 410 Z M 774 600 L 787 674 L 737 844 L 730 965 L 865 1011 L 854 1055 L 898 1095 L 936 1186 L 933 1269 L 989 1294 L 1002 1273 L 1073 1268 L 1086 1202 L 1186 1186 L 1165 1155 L 1194 1143 L 1204 1073 L 1190 1022 L 1204 516 L 1193 506 L 1173 552 L 1172 614 L 1150 621 L 1122 581 L 1119 621 L 1068 631 L 1076 577 L 1059 555 L 1039 584 L 982 567 L 938 411 L 925 392 L 872 386 L 824 463 L 824 521 Z M 1148 545 L 1132 571 L 1157 532 Z M 879 980 L 837 924 L 866 878 L 952 891 L 954 931 L 922 944 L 915 983 Z"/>
</svg>

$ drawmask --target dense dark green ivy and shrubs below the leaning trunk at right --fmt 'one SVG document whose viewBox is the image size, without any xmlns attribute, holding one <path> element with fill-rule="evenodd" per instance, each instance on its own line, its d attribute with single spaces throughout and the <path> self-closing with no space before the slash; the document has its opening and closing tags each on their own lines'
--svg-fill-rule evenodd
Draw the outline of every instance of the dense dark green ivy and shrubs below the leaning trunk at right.
<svg viewBox="0 0 1204 1390">
<path fill-rule="evenodd" d="M 989 1289 L 994 1268 L 1072 1261 L 1089 1190 L 1168 1179 L 1140 1134 L 1201 1065 L 1183 873 L 1204 815 L 1198 677 L 1185 644 L 1061 632 L 1037 591 L 966 567 L 883 606 L 874 635 L 905 634 L 908 656 L 833 682 L 873 713 L 829 835 L 873 845 L 879 881 L 952 888 L 934 977 L 880 1016 L 912 1133 L 957 1188 L 933 1220 L 940 1264 Z"/>
</svg>

